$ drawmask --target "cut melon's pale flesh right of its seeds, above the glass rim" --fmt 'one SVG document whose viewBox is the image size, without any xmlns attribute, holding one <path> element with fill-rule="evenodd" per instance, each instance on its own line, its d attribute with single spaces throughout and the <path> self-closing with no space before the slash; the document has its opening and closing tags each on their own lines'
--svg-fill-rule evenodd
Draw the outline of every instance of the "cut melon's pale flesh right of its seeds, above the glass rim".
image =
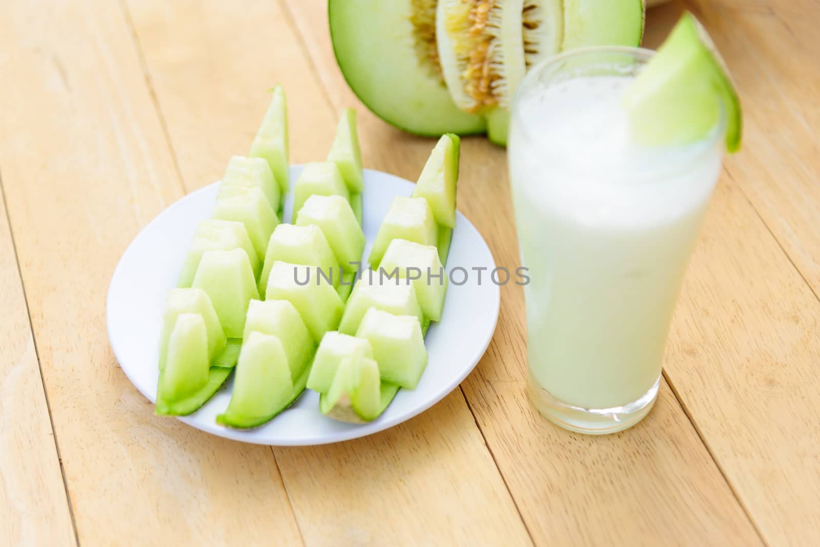
<svg viewBox="0 0 820 547">
<path fill-rule="evenodd" d="M 563 0 L 561 51 L 588 46 L 638 46 L 643 0 Z"/>
</svg>

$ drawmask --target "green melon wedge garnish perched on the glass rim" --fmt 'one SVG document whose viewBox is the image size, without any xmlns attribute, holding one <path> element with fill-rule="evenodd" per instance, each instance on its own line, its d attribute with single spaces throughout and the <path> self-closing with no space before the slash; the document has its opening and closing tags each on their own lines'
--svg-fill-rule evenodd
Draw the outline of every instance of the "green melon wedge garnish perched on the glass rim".
<svg viewBox="0 0 820 547">
<path fill-rule="evenodd" d="M 740 99 L 711 38 L 690 13 L 626 89 L 623 104 L 632 138 L 640 144 L 679 146 L 706 138 L 722 108 L 727 150 L 740 148 Z"/>
</svg>

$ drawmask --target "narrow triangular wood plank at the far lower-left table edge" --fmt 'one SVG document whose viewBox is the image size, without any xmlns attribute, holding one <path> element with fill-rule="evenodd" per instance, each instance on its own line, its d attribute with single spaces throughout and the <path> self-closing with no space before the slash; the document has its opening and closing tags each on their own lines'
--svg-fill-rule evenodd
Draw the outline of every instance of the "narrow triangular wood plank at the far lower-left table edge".
<svg viewBox="0 0 820 547">
<path fill-rule="evenodd" d="M 2 192 L 0 301 L 0 537 L 8 545 L 75 545 Z"/>
</svg>

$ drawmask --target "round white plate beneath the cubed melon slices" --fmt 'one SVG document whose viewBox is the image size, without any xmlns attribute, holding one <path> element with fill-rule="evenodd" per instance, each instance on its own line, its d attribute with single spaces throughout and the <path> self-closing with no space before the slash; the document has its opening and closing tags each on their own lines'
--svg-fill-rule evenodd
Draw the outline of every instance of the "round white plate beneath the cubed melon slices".
<svg viewBox="0 0 820 547">
<path fill-rule="evenodd" d="M 290 167 L 293 183 L 301 166 Z M 409 196 L 413 184 L 391 174 L 365 170 L 363 228 L 367 249 L 376 237 L 381 220 L 395 196 Z M 194 228 L 212 213 L 219 183 L 180 199 L 134 238 L 117 264 L 108 287 L 108 338 L 122 370 L 148 399 L 157 398 L 159 333 L 166 292 L 175 287 Z M 293 206 L 293 193 L 285 202 L 285 222 Z M 262 427 L 240 431 L 218 425 L 214 418 L 228 405 L 233 385 L 225 386 L 183 422 L 214 435 L 260 445 L 321 445 L 346 441 L 380 432 L 420 414 L 453 391 L 484 355 L 499 316 L 499 287 L 490 281 L 495 267 L 487 244 L 461 213 L 458 213 L 453 243 L 446 267 L 461 266 L 467 283 L 450 283 L 440 323 L 432 323 L 425 338 L 429 363 L 414 390 L 399 390 L 385 413 L 371 423 L 337 422 L 319 412 L 319 396 L 305 390 L 294 405 Z M 481 283 L 472 268 L 484 267 Z M 460 271 L 453 278 L 460 283 Z M 167 419 L 160 418 L 157 419 Z"/>
</svg>

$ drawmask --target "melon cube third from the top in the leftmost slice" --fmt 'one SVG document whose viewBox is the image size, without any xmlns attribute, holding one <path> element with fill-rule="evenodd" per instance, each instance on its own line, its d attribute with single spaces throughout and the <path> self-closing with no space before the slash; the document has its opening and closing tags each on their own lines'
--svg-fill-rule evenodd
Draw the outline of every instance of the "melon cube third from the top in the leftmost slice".
<svg viewBox="0 0 820 547">
<path fill-rule="evenodd" d="M 279 224 L 276 212 L 271 209 L 271 204 L 259 188 L 220 188 L 216 195 L 213 218 L 235 220 L 244 224 L 258 260 L 265 258 L 267 241 L 276 224 Z"/>
</svg>

